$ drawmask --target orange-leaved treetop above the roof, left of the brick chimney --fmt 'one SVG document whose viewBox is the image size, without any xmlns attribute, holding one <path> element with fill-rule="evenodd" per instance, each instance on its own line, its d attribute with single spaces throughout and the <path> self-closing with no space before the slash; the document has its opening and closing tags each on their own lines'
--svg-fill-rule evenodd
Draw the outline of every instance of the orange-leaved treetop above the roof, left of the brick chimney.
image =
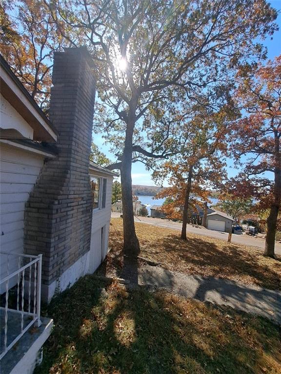
<svg viewBox="0 0 281 374">
<path fill-rule="evenodd" d="M 52 53 L 61 38 L 45 2 L 20 0 L 10 9 L 1 7 L 0 17 L 9 28 L 1 35 L 3 57 L 38 104 L 48 107 Z"/>
</svg>

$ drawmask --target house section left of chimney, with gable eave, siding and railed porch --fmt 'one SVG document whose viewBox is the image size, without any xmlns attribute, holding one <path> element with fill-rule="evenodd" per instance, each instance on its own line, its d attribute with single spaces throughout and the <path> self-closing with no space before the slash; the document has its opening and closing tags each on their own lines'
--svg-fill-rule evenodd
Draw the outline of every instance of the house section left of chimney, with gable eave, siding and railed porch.
<svg viewBox="0 0 281 374">
<path fill-rule="evenodd" d="M 25 374 L 32 373 L 36 355 L 53 325 L 52 319 L 40 317 L 40 256 L 31 259 L 23 254 L 25 204 L 44 163 L 55 157 L 48 146 L 42 146 L 38 141 L 55 143 L 57 133 L 2 57 L 0 63 L 0 294 L 4 293 L 3 299 L 8 300 L 10 289 L 18 290 L 17 307 L 12 304 L 9 306 L 12 309 L 8 309 L 7 301 L 0 307 L 1 323 L 4 322 L 1 325 L 0 366 L 3 374 Z M 28 262 L 28 268 L 24 269 L 24 261 Z M 14 273 L 17 274 L 14 276 Z M 24 286 L 26 279 L 28 287 Z M 37 296 L 33 294 L 35 290 Z M 28 316 L 31 310 L 33 318 Z M 19 312 L 21 327 L 19 318 L 15 318 Z M 21 343 L 33 325 L 38 330 L 27 352 L 21 349 Z M 20 358 L 14 359 L 15 355 Z"/>
</svg>

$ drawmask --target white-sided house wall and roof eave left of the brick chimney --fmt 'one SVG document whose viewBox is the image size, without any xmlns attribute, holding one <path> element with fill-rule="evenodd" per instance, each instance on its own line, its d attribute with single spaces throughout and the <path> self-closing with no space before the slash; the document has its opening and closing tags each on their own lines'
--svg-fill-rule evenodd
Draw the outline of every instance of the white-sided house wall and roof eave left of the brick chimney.
<svg viewBox="0 0 281 374">
<path fill-rule="evenodd" d="M 55 157 L 34 140 L 57 141 L 48 118 L 27 95 L 1 58 L 0 109 L 0 251 L 23 254 L 24 208 L 44 162 Z M 0 279 L 18 267 L 17 256 L 0 257 Z M 16 278 L 9 281 L 13 287 Z M 4 291 L 0 285 L 0 293 Z"/>
</svg>

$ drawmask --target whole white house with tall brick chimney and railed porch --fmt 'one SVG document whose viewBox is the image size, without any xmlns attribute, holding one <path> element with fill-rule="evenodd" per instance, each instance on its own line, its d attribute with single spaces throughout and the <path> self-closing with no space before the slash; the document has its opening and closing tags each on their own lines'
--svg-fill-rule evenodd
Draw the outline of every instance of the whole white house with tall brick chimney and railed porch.
<svg viewBox="0 0 281 374">
<path fill-rule="evenodd" d="M 40 295 L 49 301 L 106 256 L 117 174 L 89 162 L 96 82 L 85 48 L 55 53 L 50 120 L 0 62 L 0 366 L 25 374 L 52 326 Z M 13 287 L 15 312 L 5 301 Z"/>
</svg>

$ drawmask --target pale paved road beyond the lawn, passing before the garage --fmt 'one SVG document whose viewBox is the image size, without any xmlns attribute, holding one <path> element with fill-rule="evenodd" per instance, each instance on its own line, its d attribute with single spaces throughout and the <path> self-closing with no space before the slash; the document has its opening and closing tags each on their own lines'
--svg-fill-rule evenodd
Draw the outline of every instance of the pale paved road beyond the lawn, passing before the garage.
<svg viewBox="0 0 281 374">
<path fill-rule="evenodd" d="M 111 213 L 111 217 L 120 217 L 119 213 Z M 160 227 L 167 227 L 172 228 L 175 230 L 181 230 L 181 223 L 173 222 L 168 220 L 161 220 L 160 218 L 151 218 L 151 217 L 135 217 L 136 222 L 141 222 L 143 224 L 152 224 L 154 226 Z M 227 241 L 228 233 L 215 231 L 215 230 L 208 230 L 203 226 L 195 226 L 192 224 L 188 224 L 186 228 L 187 232 L 191 232 L 198 235 L 204 235 L 211 238 L 217 238 Z M 250 237 L 248 235 L 232 235 L 232 242 L 238 243 L 242 245 L 250 245 L 254 247 L 258 247 L 260 249 L 264 249 L 264 239 L 259 237 Z M 281 243 L 275 243 L 275 253 L 281 255 Z"/>
</svg>

